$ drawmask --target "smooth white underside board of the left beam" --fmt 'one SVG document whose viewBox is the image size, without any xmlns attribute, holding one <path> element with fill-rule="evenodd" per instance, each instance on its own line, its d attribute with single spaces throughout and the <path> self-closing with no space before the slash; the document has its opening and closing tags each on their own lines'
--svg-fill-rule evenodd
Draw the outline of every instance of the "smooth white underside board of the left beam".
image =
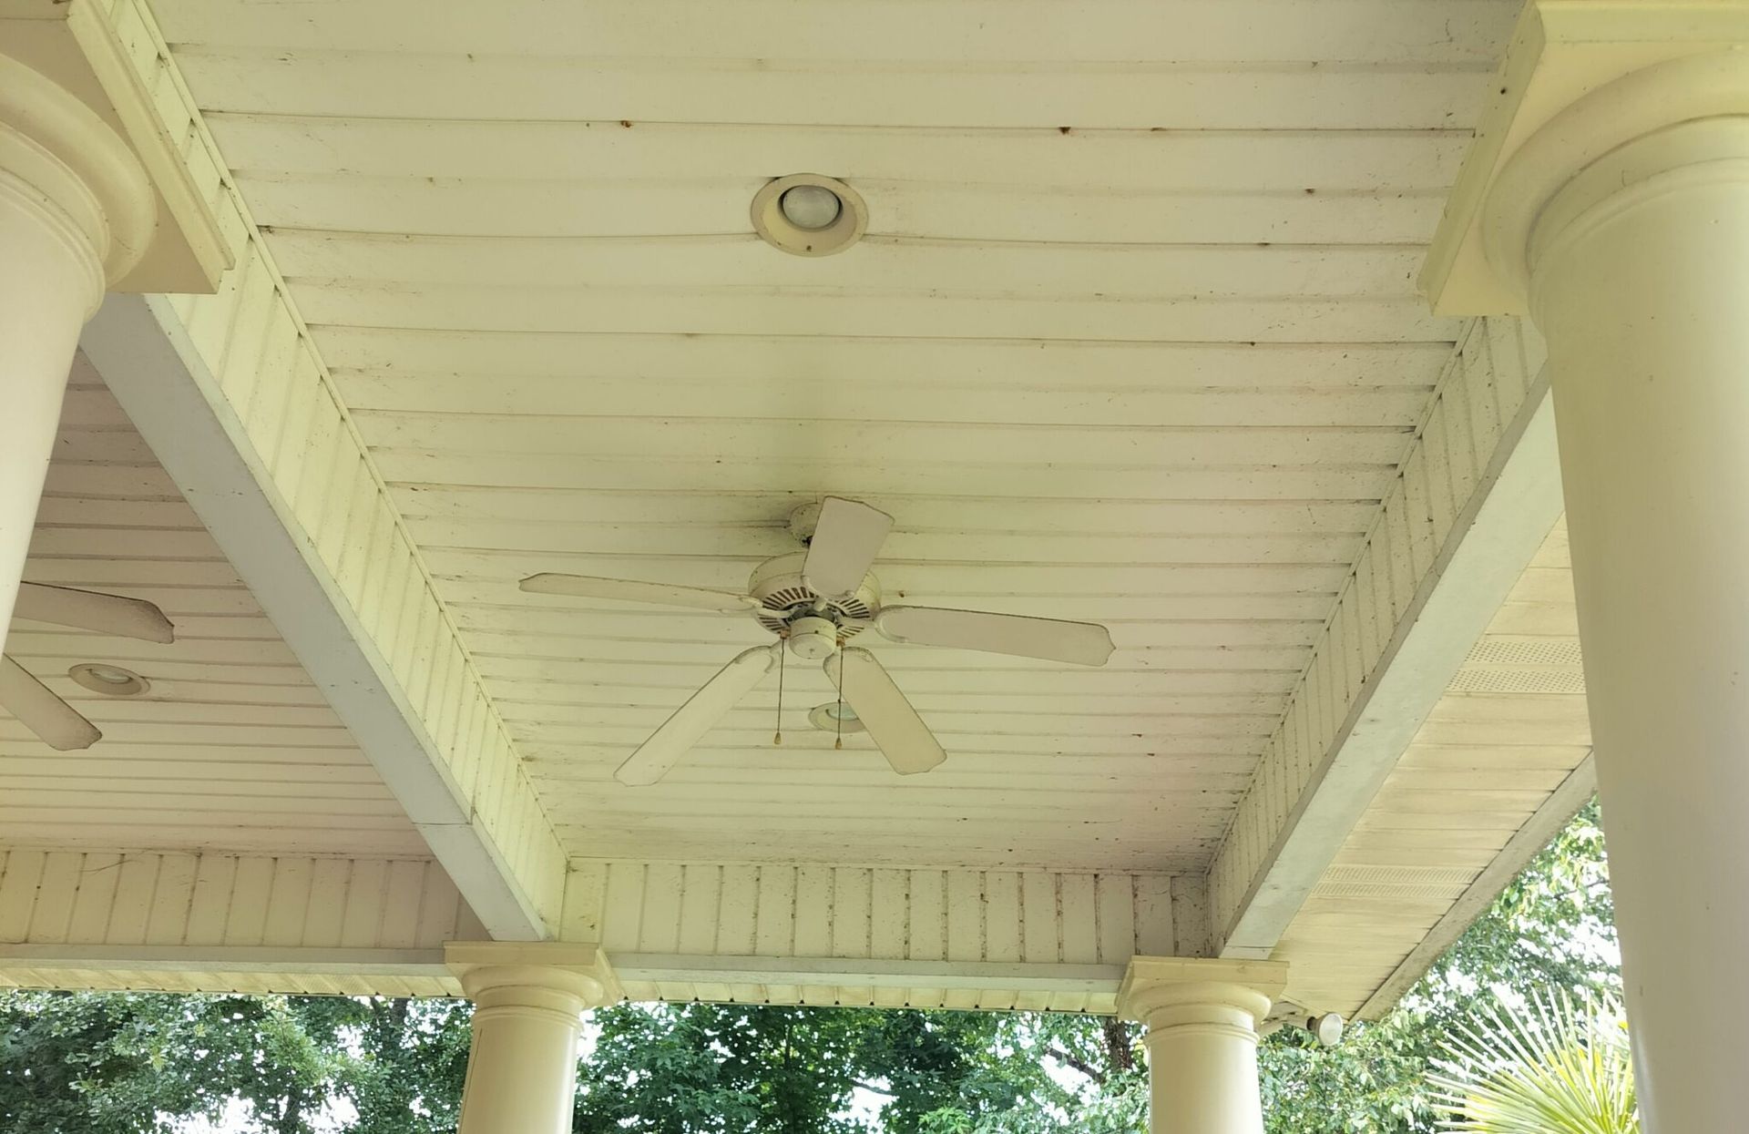
<svg viewBox="0 0 1749 1134">
<path fill-rule="evenodd" d="M 477 786 L 456 775 L 467 765 L 441 752 L 170 301 L 112 296 L 80 345 L 486 929 L 549 936 L 540 891 L 556 878 L 509 864 Z"/>
</svg>

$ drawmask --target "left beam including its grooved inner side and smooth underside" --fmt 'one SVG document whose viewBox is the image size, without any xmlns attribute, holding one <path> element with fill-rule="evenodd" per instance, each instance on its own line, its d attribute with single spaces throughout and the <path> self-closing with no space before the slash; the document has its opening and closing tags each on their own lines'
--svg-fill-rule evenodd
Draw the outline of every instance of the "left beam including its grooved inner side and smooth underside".
<svg viewBox="0 0 1749 1134">
<path fill-rule="evenodd" d="M 185 315 L 163 298 L 112 296 L 82 348 L 486 929 L 544 940 L 563 880 L 558 840 L 387 494 L 367 476 L 362 448 L 346 450 L 343 411 L 304 390 L 318 404 L 285 424 L 287 444 L 317 450 L 327 467 L 289 485 L 290 466 L 262 458 L 262 427 L 250 434 L 250 410 L 240 413 L 227 396 L 226 385 L 238 390 L 238 371 L 248 369 L 259 396 L 250 406 L 259 416 L 276 396 L 278 418 L 292 401 L 285 387 L 318 383 L 289 315 L 285 352 L 227 346 L 229 324 L 283 303 L 252 245 L 231 271 L 243 278 L 215 298 L 185 299 Z M 201 334 L 213 320 L 227 331 L 210 336 L 217 352 L 203 348 Z M 271 336 L 275 313 L 261 324 L 257 338 Z M 373 634 L 385 626 L 395 626 L 395 642 Z"/>
</svg>

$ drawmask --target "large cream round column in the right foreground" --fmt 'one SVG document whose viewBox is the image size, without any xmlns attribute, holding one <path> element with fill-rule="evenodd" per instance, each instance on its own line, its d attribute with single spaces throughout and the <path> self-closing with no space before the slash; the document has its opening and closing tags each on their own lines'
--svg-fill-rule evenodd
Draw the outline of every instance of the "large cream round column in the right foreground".
<svg viewBox="0 0 1749 1134">
<path fill-rule="evenodd" d="M 1644 16 L 1641 58 L 1704 30 Z M 1543 74 L 1588 61 L 1609 63 L 1572 47 Z M 1548 340 L 1642 1124 L 1732 1130 L 1749 1018 L 1732 975 L 1749 943 L 1749 58 L 1586 79 L 1520 131 L 1473 231 Z"/>
</svg>

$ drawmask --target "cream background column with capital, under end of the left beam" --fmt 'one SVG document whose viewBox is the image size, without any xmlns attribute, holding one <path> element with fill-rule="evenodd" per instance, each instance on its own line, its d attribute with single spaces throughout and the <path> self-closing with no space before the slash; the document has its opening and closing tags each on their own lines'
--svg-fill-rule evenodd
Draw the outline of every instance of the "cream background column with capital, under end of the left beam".
<svg viewBox="0 0 1749 1134">
<path fill-rule="evenodd" d="M 612 987 L 595 947 L 449 945 L 474 1001 L 460 1134 L 568 1134 L 582 1012 Z"/>
</svg>

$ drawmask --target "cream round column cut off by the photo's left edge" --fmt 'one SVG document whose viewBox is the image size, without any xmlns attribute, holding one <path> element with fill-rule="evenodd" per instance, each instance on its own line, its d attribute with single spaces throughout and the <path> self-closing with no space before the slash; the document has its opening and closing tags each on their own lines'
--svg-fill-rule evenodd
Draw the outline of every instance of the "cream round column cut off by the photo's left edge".
<svg viewBox="0 0 1749 1134">
<path fill-rule="evenodd" d="M 0 56 L 0 648 L 79 329 L 152 234 L 133 150 L 89 107 Z"/>
</svg>

